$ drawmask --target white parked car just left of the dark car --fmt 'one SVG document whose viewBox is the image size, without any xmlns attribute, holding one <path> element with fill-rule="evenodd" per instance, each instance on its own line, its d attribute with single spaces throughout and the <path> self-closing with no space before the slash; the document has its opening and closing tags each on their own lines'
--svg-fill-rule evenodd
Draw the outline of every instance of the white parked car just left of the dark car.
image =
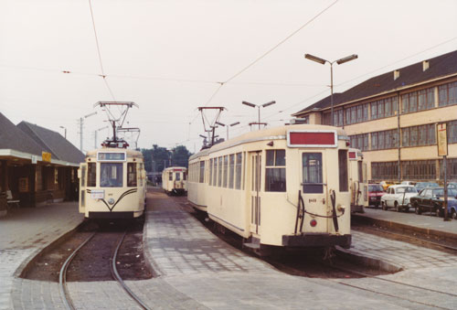
<svg viewBox="0 0 457 310">
<path fill-rule="evenodd" d="M 409 198 L 418 195 L 416 187 L 409 185 L 392 185 L 388 187 L 386 194 L 381 197 L 383 210 L 395 208 L 398 212 L 405 210 L 408 212 L 411 204 Z"/>
</svg>

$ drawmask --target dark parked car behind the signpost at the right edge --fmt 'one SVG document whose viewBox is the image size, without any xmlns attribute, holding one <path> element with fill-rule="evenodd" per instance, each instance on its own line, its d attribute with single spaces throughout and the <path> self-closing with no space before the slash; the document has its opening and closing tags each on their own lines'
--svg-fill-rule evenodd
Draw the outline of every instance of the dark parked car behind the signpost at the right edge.
<svg viewBox="0 0 457 310">
<path fill-rule="evenodd" d="M 448 213 L 452 219 L 457 219 L 457 189 L 448 189 Z M 437 217 L 444 214 L 444 188 L 426 187 L 420 194 L 410 199 L 416 208 L 416 214 L 434 212 Z"/>
</svg>

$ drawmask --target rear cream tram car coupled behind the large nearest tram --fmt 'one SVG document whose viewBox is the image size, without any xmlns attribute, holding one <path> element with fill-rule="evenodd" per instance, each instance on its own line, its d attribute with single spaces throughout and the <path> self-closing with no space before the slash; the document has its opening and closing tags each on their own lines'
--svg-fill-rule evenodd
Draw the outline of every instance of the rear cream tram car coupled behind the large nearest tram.
<svg viewBox="0 0 457 310">
<path fill-rule="evenodd" d="M 209 149 L 189 157 L 189 179 L 187 181 L 187 200 L 200 211 L 207 211 L 207 174 Z"/>
</svg>

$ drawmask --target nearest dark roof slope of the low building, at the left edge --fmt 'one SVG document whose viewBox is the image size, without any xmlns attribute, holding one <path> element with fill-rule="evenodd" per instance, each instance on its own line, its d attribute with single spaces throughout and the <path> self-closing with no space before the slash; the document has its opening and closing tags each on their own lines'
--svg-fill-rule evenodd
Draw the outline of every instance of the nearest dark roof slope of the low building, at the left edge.
<svg viewBox="0 0 457 310">
<path fill-rule="evenodd" d="M 11 123 L 4 114 L 0 112 L 0 149 L 12 149 L 27 154 L 41 155 L 46 151 L 37 144 L 30 136 Z"/>
</svg>

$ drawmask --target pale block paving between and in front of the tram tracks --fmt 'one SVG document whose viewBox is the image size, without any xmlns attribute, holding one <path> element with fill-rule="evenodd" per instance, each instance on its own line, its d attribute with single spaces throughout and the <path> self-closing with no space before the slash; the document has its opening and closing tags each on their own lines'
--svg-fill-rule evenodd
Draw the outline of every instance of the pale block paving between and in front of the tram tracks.
<svg viewBox="0 0 457 310">
<path fill-rule="evenodd" d="M 436 305 L 452 309 L 457 305 L 457 294 L 441 293 L 457 287 L 457 264 L 450 254 L 355 232 L 351 251 L 397 264 L 405 271 L 366 279 L 297 277 L 280 273 L 218 240 L 165 194 L 148 193 L 148 203 L 145 249 L 160 276 L 127 283 L 154 309 L 430 309 Z M 49 214 L 60 212 L 47 210 Z M 32 217 L 29 221 L 34 223 L 37 219 Z M 40 232 L 47 236 L 45 239 L 52 239 L 52 231 L 57 230 L 52 226 L 58 221 L 61 219 L 52 219 L 52 225 L 38 229 L 43 230 Z M 0 225 L 4 222 L 0 219 Z M 23 224 L 24 221 L 16 225 Z M 65 225 L 71 226 L 69 221 Z M 15 230 L 13 226 L 10 224 Z M 9 273 L 0 275 L 2 284 L 6 280 L 13 286 L 9 306 L 63 308 L 57 283 L 11 276 L 18 261 L 27 257 L 26 251 L 34 251 L 27 249 L 24 241 L 39 244 L 41 237 L 36 237 L 32 230 L 28 237 L 21 230 L 16 233 L 22 236 L 17 241 L 14 238 L 16 248 L 0 252 L 0 260 L 10 266 Z M 3 233 L 0 236 L 5 239 Z M 6 243 L 2 243 L 2 249 Z M 19 244 L 23 244 L 22 248 Z M 114 282 L 69 283 L 69 291 L 78 309 L 138 308 Z"/>
</svg>

